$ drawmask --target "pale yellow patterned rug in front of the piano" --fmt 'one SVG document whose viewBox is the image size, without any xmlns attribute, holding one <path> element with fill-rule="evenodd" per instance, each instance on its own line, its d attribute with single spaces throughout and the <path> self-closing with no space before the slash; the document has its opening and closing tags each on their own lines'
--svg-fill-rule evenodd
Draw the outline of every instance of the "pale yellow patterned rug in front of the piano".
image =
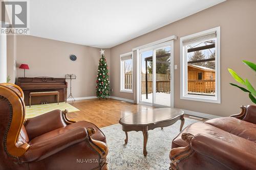
<svg viewBox="0 0 256 170">
<path fill-rule="evenodd" d="M 79 111 L 79 109 L 65 102 L 61 102 L 59 104 L 50 103 L 50 104 L 44 104 L 44 105 L 32 105 L 31 107 L 26 106 L 26 118 L 35 117 L 56 109 L 59 109 L 59 110 L 67 109 L 69 112 Z"/>
</svg>

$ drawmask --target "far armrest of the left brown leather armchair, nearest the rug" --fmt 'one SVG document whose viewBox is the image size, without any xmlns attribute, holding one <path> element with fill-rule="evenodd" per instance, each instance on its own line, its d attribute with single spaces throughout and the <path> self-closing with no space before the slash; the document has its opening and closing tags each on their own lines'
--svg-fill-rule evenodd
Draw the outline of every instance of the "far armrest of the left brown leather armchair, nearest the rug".
<svg viewBox="0 0 256 170">
<path fill-rule="evenodd" d="M 29 139 L 40 136 L 55 129 L 65 127 L 66 124 L 62 119 L 61 110 L 53 110 L 48 113 L 29 118 L 24 124 Z"/>
</svg>

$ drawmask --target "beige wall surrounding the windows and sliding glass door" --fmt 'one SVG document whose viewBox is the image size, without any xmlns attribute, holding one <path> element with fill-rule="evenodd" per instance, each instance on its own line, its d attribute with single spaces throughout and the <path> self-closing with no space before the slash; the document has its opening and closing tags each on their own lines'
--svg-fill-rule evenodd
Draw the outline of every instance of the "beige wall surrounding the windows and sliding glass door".
<svg viewBox="0 0 256 170">
<path fill-rule="evenodd" d="M 111 48 L 111 86 L 113 96 L 133 100 L 133 94 L 119 92 L 119 55 L 131 52 L 132 48 L 147 44 L 168 36 L 177 35 L 174 41 L 175 70 L 174 106 L 186 110 L 207 114 L 228 116 L 237 113 L 240 105 L 252 104 L 248 94 L 229 85 L 234 80 L 227 68 L 237 70 L 243 78 L 249 79 L 255 86 L 255 73 L 242 64 L 242 60 L 256 62 L 256 1 L 228 0 L 204 11 L 171 23 L 153 32 L 127 41 Z M 180 99 L 180 37 L 221 27 L 221 104 L 196 102 Z"/>
</svg>

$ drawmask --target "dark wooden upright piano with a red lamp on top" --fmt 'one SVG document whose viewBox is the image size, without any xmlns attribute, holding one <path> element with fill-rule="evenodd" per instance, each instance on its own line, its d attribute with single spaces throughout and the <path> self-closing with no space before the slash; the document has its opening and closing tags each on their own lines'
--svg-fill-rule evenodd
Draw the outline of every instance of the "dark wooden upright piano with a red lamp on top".
<svg viewBox="0 0 256 170">
<path fill-rule="evenodd" d="M 34 77 L 34 78 L 18 78 L 17 85 L 22 88 L 24 92 L 24 101 L 29 105 L 29 93 L 41 91 L 58 91 L 59 102 L 67 102 L 67 87 L 68 83 L 65 78 L 51 78 L 51 77 Z M 56 103 L 54 95 L 34 96 L 32 105 L 41 103 Z"/>
</svg>

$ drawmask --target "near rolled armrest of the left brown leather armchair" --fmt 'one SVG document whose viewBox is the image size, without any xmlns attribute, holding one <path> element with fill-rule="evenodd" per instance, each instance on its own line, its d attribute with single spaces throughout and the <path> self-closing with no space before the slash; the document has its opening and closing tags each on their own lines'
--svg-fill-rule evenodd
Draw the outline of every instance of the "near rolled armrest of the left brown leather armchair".
<svg viewBox="0 0 256 170">
<path fill-rule="evenodd" d="M 21 163 L 39 161 L 86 139 L 88 139 L 87 129 L 78 127 L 44 141 L 33 143 L 19 159 Z"/>
</svg>

